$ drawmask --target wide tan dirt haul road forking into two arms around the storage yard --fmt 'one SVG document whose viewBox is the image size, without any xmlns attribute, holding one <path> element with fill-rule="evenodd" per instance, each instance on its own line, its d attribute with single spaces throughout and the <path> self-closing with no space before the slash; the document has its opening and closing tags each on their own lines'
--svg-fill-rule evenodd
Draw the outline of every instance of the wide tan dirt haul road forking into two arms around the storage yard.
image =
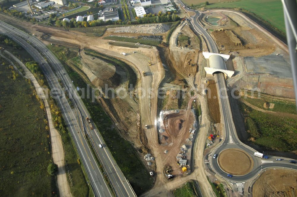
<svg viewBox="0 0 297 197">
<path fill-rule="evenodd" d="M 157 93 L 159 84 L 165 75 L 165 71 L 161 59 L 159 57 L 159 52 L 157 48 L 128 48 L 113 46 L 106 44 L 105 42 L 107 40 L 103 40 L 102 38 L 94 39 L 94 37 L 85 36 L 85 34 L 81 32 L 64 31 L 61 29 L 49 28 L 44 26 L 33 26 L 30 23 L 28 23 L 28 27 L 26 28 L 29 28 L 29 26 L 31 28 L 30 31 L 33 31 L 35 35 L 41 35 L 43 33 L 50 36 L 50 39 L 48 41 L 43 40 L 43 42 L 46 42 L 48 44 L 49 42 L 56 44 L 71 43 L 80 46 L 81 50 L 83 48 L 90 48 L 98 51 L 99 53 L 116 57 L 126 62 L 136 70 L 138 78 L 141 78 L 141 90 L 138 90 L 138 95 L 140 96 L 139 102 L 141 113 L 141 128 L 144 128 L 145 125 L 149 125 L 149 129 L 146 130 L 146 137 L 148 140 L 149 148 L 151 149 L 151 153 L 155 157 L 155 162 L 157 166 L 157 178 L 155 185 L 152 190 L 150 190 L 148 193 L 143 194 L 143 196 L 152 196 L 154 194 L 156 194 L 157 196 L 170 195 L 171 189 L 178 187 L 179 185 L 190 179 L 199 180 L 203 196 L 214 196 L 214 193 L 206 178 L 206 172 L 203 168 L 203 150 L 205 144 L 204 142 L 206 140 L 205 136 L 209 130 L 210 125 L 209 120 L 206 116 L 206 114 L 208 113 L 208 109 L 206 108 L 207 101 L 204 96 L 198 95 L 198 90 L 195 89 L 195 85 L 193 83 L 193 77 L 187 77 L 188 84 L 195 93 L 194 97 L 198 96 L 198 99 L 200 100 L 201 104 L 202 113 L 205 114 L 204 116 L 202 116 L 200 129 L 198 131 L 199 133 L 196 137 L 194 146 L 192 148 L 194 151 L 192 157 L 192 165 L 193 169 L 195 170 L 192 172 L 192 174 L 190 174 L 187 177 L 176 177 L 173 181 L 168 182 L 163 175 L 163 167 L 166 160 L 164 160 L 164 150 L 160 148 L 160 144 L 158 143 L 158 134 L 156 129 L 158 100 Z M 179 31 L 179 29 L 177 31 Z M 177 34 L 177 32 L 174 31 L 173 34 Z M 174 47 L 176 47 L 176 45 Z M 176 51 L 180 50 L 177 48 L 175 49 Z M 133 51 L 136 51 L 136 53 L 133 53 Z M 127 55 L 122 56 L 120 55 L 120 52 L 127 53 Z M 148 65 L 149 61 L 152 62 L 152 66 Z M 182 65 L 184 65 L 184 63 Z M 145 77 L 142 75 L 142 71 L 146 72 Z M 191 107 L 188 107 L 187 109 L 190 111 L 190 108 Z M 160 192 L 163 195 L 159 195 Z"/>
</svg>

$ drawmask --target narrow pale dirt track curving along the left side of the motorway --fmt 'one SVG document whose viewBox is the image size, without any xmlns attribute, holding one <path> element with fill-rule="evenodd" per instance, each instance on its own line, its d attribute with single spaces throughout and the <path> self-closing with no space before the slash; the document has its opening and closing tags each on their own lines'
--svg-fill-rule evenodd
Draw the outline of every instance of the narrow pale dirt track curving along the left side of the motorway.
<svg viewBox="0 0 297 197">
<path fill-rule="evenodd" d="M 46 110 L 46 116 L 48 120 L 49 130 L 50 130 L 50 142 L 51 142 L 51 152 L 53 157 L 53 162 L 58 165 L 58 173 L 57 173 L 57 184 L 59 188 L 59 194 L 60 196 L 71 196 L 70 188 L 67 181 L 66 176 L 66 169 L 65 169 L 65 161 L 64 161 L 64 148 L 62 144 L 61 135 L 56 130 L 53 124 L 52 115 L 50 112 L 50 106 L 48 104 L 48 100 L 45 98 L 45 93 L 42 89 L 42 87 L 37 82 L 34 75 L 29 71 L 29 69 L 23 64 L 22 61 L 20 61 L 17 57 L 12 55 L 7 50 L 4 51 L 10 57 L 12 57 L 18 64 L 24 69 L 26 77 L 31 80 L 32 84 L 35 87 L 35 90 L 37 92 L 37 95 L 43 100 L 45 110 Z"/>
</svg>

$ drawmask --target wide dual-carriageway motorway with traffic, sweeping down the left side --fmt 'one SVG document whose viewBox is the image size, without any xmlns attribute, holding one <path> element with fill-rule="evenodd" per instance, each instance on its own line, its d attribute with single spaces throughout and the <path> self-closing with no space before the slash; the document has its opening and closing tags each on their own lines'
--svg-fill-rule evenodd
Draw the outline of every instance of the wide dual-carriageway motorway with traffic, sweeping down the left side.
<svg viewBox="0 0 297 197">
<path fill-rule="evenodd" d="M 0 28 L 1 31 L 6 32 L 7 36 L 10 36 L 21 46 L 23 46 L 32 55 L 35 61 L 40 63 L 40 67 L 45 74 L 50 88 L 56 88 L 56 90 L 59 92 L 57 93 L 59 96 L 56 97 L 57 102 L 69 131 L 71 132 L 83 165 L 85 166 L 95 196 L 112 195 L 108 189 L 108 186 L 106 185 L 99 167 L 97 166 L 95 159 L 91 154 L 91 150 L 86 142 L 86 139 L 84 138 L 81 123 L 93 142 L 93 146 L 100 158 L 100 161 L 102 161 L 116 195 L 136 196 L 131 185 L 124 177 L 123 173 L 119 169 L 119 166 L 116 164 L 116 161 L 113 159 L 110 151 L 106 147 L 102 136 L 98 132 L 98 129 L 93 124 L 94 130 L 91 130 L 88 123 L 86 123 L 86 117 L 91 118 L 89 112 L 83 104 L 83 101 L 78 96 L 76 87 L 74 87 L 72 84 L 70 77 L 56 56 L 51 51 L 49 51 L 48 48 L 37 38 L 32 37 L 2 21 L 0 21 Z M 43 57 L 47 59 L 49 64 L 44 60 Z M 69 98 L 73 99 L 72 101 L 74 101 L 73 104 L 75 109 L 72 109 L 69 106 L 64 92 L 62 91 L 63 87 L 61 87 L 59 80 L 61 81 L 64 88 L 68 89 L 67 93 Z M 62 98 L 60 98 L 60 95 Z M 99 148 L 99 144 L 103 144 L 103 148 Z"/>
</svg>

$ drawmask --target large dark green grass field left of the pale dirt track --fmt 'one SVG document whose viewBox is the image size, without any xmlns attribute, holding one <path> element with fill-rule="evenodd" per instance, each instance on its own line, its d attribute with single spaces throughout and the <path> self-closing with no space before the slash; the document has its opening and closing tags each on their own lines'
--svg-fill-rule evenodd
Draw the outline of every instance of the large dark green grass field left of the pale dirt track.
<svg viewBox="0 0 297 197">
<path fill-rule="evenodd" d="M 3 63 L 4 62 L 4 65 Z M 1 196 L 56 196 L 44 111 L 34 87 L 0 58 Z"/>
</svg>

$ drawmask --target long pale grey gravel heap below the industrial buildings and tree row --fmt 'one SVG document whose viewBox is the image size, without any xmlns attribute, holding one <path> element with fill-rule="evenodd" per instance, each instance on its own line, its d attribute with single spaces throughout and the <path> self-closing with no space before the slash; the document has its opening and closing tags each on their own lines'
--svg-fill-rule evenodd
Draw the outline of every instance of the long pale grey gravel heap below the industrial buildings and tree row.
<svg viewBox="0 0 297 197">
<path fill-rule="evenodd" d="M 143 24 L 137 26 L 129 26 L 125 27 L 124 30 L 117 30 L 123 29 L 122 27 L 115 28 L 114 32 L 121 32 L 121 33 L 135 33 L 135 34 L 161 34 L 170 29 L 170 26 L 158 23 L 158 24 Z"/>
</svg>

